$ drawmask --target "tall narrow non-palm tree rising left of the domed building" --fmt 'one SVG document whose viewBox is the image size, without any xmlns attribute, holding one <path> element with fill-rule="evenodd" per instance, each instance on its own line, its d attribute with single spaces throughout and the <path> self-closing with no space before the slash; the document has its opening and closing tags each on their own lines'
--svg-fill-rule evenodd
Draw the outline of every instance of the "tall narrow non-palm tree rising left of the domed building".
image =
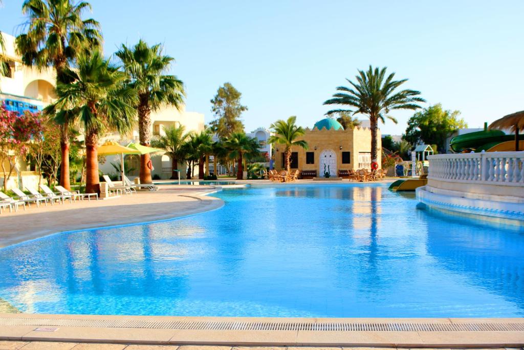
<svg viewBox="0 0 524 350">
<path fill-rule="evenodd" d="M 231 83 L 224 83 L 211 100 L 211 110 L 216 119 L 211 122 L 211 127 L 222 139 L 227 139 L 233 133 L 244 132 L 244 124 L 241 120 L 242 112 L 247 107 L 240 103 L 242 93 L 233 87 Z"/>
</svg>

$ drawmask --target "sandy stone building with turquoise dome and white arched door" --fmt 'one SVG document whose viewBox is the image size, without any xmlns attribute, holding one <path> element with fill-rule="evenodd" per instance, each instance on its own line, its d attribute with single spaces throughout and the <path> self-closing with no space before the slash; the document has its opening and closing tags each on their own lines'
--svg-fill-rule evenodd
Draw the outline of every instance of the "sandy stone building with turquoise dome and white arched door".
<svg viewBox="0 0 524 350">
<path fill-rule="evenodd" d="M 371 169 L 371 130 L 362 126 L 344 130 L 341 123 L 332 118 L 324 118 L 305 129 L 301 138 L 309 147 L 293 146 L 291 149 L 291 169 L 299 169 L 302 178 L 345 177 L 350 170 Z M 380 130 L 377 132 L 377 162 L 380 167 L 382 143 Z M 285 147 L 275 144 L 275 168 L 286 168 Z"/>
</svg>

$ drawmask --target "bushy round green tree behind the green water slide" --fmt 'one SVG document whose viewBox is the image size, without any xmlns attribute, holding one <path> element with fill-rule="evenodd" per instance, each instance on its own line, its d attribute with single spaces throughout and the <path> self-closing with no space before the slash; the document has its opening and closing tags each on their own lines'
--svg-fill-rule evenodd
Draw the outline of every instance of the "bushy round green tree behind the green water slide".
<svg viewBox="0 0 524 350">
<path fill-rule="evenodd" d="M 424 108 L 408 120 L 403 139 L 413 145 L 435 144 L 440 151 L 444 151 L 446 138 L 459 129 L 467 128 L 466 122 L 459 115 L 459 111 L 442 109 L 440 103 Z"/>
</svg>

